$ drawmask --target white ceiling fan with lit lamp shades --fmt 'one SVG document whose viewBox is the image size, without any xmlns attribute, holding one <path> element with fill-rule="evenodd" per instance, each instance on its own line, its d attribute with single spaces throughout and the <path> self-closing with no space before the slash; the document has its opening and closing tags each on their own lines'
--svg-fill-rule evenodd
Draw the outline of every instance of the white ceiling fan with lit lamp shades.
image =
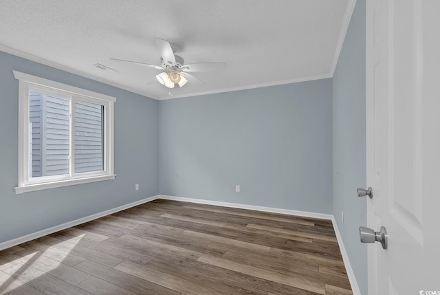
<svg viewBox="0 0 440 295">
<path fill-rule="evenodd" d="M 188 82 L 188 79 L 201 81 L 199 78 L 189 74 L 190 72 L 211 72 L 226 69 L 225 63 L 190 63 L 185 65 L 184 58 L 174 54 L 175 50 L 178 48 L 175 43 L 170 43 L 159 38 L 155 38 L 154 40 L 157 49 L 161 54 L 161 65 L 149 65 L 148 63 L 126 61 L 118 58 L 110 58 L 110 60 L 120 61 L 122 63 L 134 63 L 135 65 L 142 65 L 144 67 L 153 67 L 153 69 L 161 69 L 164 72 L 157 74 L 156 79 L 160 84 L 168 88 L 174 88 L 176 84 L 179 85 L 179 87 L 184 87 Z M 201 82 L 204 83 L 203 81 Z"/>
</svg>

